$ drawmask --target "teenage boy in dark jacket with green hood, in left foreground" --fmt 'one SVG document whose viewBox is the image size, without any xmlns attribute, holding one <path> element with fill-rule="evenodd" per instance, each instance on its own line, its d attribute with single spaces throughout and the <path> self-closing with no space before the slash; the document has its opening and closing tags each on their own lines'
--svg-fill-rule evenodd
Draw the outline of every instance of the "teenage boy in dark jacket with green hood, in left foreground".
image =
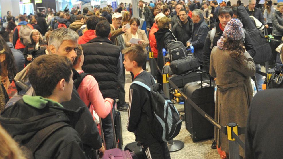
<svg viewBox="0 0 283 159">
<path fill-rule="evenodd" d="M 39 145 L 33 154 L 36 159 L 86 158 L 83 143 L 74 127 L 83 118 L 82 110 L 87 108 L 73 111 L 60 104 L 71 100 L 72 68 L 72 62 L 64 56 L 42 55 L 36 58 L 28 71 L 36 96 L 24 95 L 15 105 L 1 113 L 1 125 L 21 145 L 32 140 L 41 129 L 53 124 L 65 125 Z"/>
</svg>

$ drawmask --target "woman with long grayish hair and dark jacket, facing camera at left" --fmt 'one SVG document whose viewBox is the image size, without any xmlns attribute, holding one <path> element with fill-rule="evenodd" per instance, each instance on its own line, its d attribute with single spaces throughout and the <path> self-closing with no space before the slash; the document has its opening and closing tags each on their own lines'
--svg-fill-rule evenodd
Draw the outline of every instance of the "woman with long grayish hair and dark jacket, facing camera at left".
<svg viewBox="0 0 283 159">
<path fill-rule="evenodd" d="M 23 51 L 26 60 L 25 64 L 26 65 L 29 64 L 34 58 L 39 56 L 39 54 L 33 53 L 35 50 L 45 50 L 46 48 L 47 48 L 47 44 L 43 40 L 41 33 L 38 30 L 33 29 L 30 32 L 30 43 L 28 43 L 28 45 L 25 47 Z"/>
</svg>

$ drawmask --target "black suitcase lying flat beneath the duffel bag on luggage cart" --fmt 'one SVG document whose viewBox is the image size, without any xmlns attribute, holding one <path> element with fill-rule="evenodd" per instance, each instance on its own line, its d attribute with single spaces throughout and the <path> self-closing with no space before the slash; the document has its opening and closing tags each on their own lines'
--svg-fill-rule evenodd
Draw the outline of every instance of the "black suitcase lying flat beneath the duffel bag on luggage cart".
<svg viewBox="0 0 283 159">
<path fill-rule="evenodd" d="M 171 79 L 171 81 L 173 81 L 177 87 L 182 88 L 189 82 L 200 81 L 200 72 L 200 70 L 193 70 L 181 75 L 173 74 L 171 77 L 169 77 L 169 79 Z M 202 76 L 204 80 L 209 80 L 207 74 L 203 74 Z"/>
</svg>

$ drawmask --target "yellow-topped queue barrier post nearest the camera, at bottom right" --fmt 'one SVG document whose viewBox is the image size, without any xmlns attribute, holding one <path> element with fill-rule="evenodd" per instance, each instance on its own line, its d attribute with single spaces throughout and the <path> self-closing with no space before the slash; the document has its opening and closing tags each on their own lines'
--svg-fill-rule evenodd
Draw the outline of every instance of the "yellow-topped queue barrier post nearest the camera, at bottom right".
<svg viewBox="0 0 283 159">
<path fill-rule="evenodd" d="M 238 136 L 238 125 L 236 123 L 229 123 L 227 125 L 227 138 L 229 145 L 229 158 L 230 159 L 240 159 L 239 156 L 239 145 L 235 138 L 232 136 L 232 131 Z"/>
</svg>

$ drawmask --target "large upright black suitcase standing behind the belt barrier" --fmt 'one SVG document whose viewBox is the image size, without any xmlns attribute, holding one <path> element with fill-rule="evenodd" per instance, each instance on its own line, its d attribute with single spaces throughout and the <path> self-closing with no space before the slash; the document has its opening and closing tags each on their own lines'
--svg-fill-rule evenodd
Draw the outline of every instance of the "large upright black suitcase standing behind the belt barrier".
<svg viewBox="0 0 283 159">
<path fill-rule="evenodd" d="M 184 93 L 196 103 L 198 107 L 211 117 L 214 117 L 214 87 L 209 84 L 209 80 L 203 81 L 203 83 L 207 85 L 205 87 L 201 87 L 200 83 L 202 82 L 198 81 L 186 84 L 184 86 Z M 214 137 L 214 126 L 200 115 L 188 101 L 185 101 L 185 118 L 186 129 L 192 134 L 193 142 Z"/>
</svg>

